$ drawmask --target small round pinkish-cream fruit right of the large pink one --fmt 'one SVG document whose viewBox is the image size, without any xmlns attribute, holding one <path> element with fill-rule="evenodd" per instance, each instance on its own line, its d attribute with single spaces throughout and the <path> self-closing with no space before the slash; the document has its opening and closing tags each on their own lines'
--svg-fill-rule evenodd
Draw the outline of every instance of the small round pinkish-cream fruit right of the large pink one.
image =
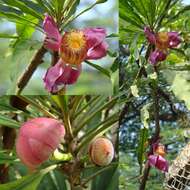
<svg viewBox="0 0 190 190">
<path fill-rule="evenodd" d="M 110 140 L 96 138 L 89 147 L 91 161 L 98 166 L 106 166 L 111 163 L 114 157 L 114 147 Z"/>
</svg>

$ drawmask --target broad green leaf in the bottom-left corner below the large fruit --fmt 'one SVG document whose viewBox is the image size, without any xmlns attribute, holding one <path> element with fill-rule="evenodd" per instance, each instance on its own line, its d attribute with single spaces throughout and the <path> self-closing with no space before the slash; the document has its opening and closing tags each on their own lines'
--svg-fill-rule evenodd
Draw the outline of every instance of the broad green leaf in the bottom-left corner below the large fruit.
<svg viewBox="0 0 190 190">
<path fill-rule="evenodd" d="M 22 177 L 16 181 L 0 185 L 1 190 L 36 190 L 41 179 L 45 174 L 55 169 L 56 166 L 50 166 L 34 174 Z"/>
</svg>

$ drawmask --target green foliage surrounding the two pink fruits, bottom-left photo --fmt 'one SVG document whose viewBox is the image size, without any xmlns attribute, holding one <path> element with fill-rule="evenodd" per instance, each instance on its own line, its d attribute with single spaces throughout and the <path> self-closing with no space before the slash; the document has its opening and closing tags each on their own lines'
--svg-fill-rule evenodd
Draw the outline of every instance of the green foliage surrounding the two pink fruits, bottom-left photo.
<svg viewBox="0 0 190 190">
<path fill-rule="evenodd" d="M 78 170 L 80 168 L 78 177 L 86 188 L 77 186 L 72 190 L 117 190 L 120 112 L 118 98 L 118 96 L 0 97 L 0 189 L 70 190 L 69 175 L 76 170 L 72 173 L 69 164 L 75 164 L 76 160 L 80 160 L 82 167 L 77 168 Z M 63 158 L 56 160 L 54 154 L 35 172 L 29 172 L 15 151 L 15 140 L 21 124 L 31 118 L 53 117 L 60 120 L 66 128 L 65 114 L 75 135 L 69 142 L 65 138 L 59 146 L 59 156 L 64 153 Z M 79 128 L 79 132 L 76 133 Z M 88 156 L 89 143 L 98 136 L 107 137 L 114 145 L 114 160 L 108 166 L 94 165 Z M 71 156 L 68 147 L 75 142 L 77 142 L 75 148 L 78 149 L 80 146 L 80 149 L 78 154 Z M 61 149 L 63 152 L 60 152 Z"/>
</svg>

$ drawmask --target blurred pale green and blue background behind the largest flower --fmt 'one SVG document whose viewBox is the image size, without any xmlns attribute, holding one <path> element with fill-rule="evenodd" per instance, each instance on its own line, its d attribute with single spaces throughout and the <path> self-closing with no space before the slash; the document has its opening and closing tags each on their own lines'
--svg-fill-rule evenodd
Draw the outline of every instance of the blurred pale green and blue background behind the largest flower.
<svg viewBox="0 0 190 190">
<path fill-rule="evenodd" d="M 14 94 L 15 86 L 19 76 L 30 63 L 34 53 L 43 43 L 44 35 L 35 30 L 28 22 L 15 18 L 9 13 L 15 12 L 20 15 L 19 10 L 9 6 L 4 6 L 4 0 L 0 1 L 0 94 Z M 36 2 L 36 1 L 34 1 Z M 25 2 L 27 4 L 27 2 Z M 95 3 L 95 0 L 82 0 L 76 9 L 76 14 Z M 13 2 L 14 5 L 14 2 Z M 40 17 L 44 11 L 39 6 L 34 6 Z M 6 19 L 7 18 L 7 19 Z M 33 23 L 38 23 L 38 19 L 29 14 L 25 17 Z M 10 22 L 12 21 L 12 22 Z M 17 24 L 16 24 L 17 23 Z M 42 23 L 39 23 L 41 25 Z M 72 22 L 66 29 L 104 27 L 108 35 L 118 33 L 118 4 L 115 0 L 96 5 L 93 9 L 85 12 Z M 16 38 L 19 36 L 19 38 Z M 118 86 L 118 68 L 113 68 L 114 53 L 118 50 L 118 40 L 116 37 L 107 38 L 110 47 L 110 54 L 105 58 L 93 61 L 110 72 L 110 77 L 101 73 L 92 66 L 83 63 L 83 72 L 77 84 L 69 86 L 67 94 L 112 94 L 114 86 Z M 111 56 L 110 56 L 111 55 Z M 23 94 L 37 95 L 47 94 L 43 85 L 43 76 L 50 66 L 50 53 L 46 53 L 44 63 L 41 64 Z"/>
</svg>

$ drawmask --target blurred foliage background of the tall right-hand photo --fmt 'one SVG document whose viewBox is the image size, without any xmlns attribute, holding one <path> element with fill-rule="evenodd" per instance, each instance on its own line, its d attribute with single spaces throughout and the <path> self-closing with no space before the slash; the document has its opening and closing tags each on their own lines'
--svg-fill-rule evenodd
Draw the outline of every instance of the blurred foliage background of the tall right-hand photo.
<svg viewBox="0 0 190 190">
<path fill-rule="evenodd" d="M 154 100 L 150 83 L 157 81 L 161 143 L 169 163 L 190 138 L 190 1 L 120 0 L 120 90 L 130 102 L 122 105 L 120 117 L 120 189 L 139 189 L 141 169 L 147 159 L 148 141 L 155 132 Z M 146 61 L 144 26 L 155 31 L 178 31 L 182 43 L 159 64 L 156 78 Z M 147 76 L 137 77 L 145 68 Z M 147 128 L 146 128 L 147 127 Z M 163 189 L 164 174 L 151 168 L 145 189 Z"/>
</svg>

